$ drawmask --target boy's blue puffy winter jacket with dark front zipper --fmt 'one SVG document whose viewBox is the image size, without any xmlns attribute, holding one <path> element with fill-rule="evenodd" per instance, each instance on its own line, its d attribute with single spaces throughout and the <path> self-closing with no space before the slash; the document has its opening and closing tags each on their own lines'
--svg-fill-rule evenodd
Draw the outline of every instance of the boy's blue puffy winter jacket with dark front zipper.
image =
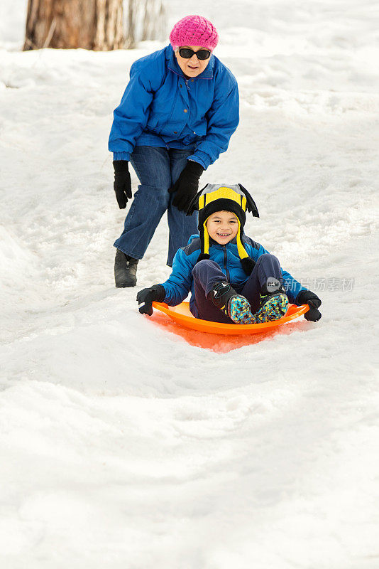
<svg viewBox="0 0 379 569">
<path fill-rule="evenodd" d="M 257 261 L 260 255 L 268 253 L 268 250 L 256 243 L 247 235 L 242 236 L 243 247 L 250 257 Z M 236 292 L 240 292 L 243 285 L 245 285 L 248 277 L 246 272 L 243 271 L 241 259 L 238 256 L 237 244 L 233 241 L 227 245 L 219 245 L 213 240 L 209 240 L 209 256 L 212 261 L 215 261 L 224 272 L 226 280 L 230 282 Z M 189 300 L 189 307 L 192 308 L 194 303 L 194 280 L 192 277 L 192 269 L 196 265 L 197 258 L 200 254 L 200 238 L 199 235 L 191 235 L 188 245 L 177 250 L 174 261 L 172 263 L 172 273 L 168 279 L 161 283 L 165 289 L 165 299 L 170 306 L 176 306 L 183 302 L 187 297 L 189 291 L 191 292 L 191 299 Z M 307 290 L 300 285 L 300 282 L 290 275 L 284 269 L 282 271 L 283 287 L 287 292 L 287 297 L 290 302 L 296 304 L 297 295 L 301 290 Z M 234 286 L 236 285 L 236 286 Z"/>
</svg>

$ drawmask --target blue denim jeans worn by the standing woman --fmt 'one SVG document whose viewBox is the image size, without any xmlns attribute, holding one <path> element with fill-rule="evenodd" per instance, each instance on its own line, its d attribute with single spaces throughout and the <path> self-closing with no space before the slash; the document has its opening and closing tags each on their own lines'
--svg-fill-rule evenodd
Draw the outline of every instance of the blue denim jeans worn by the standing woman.
<svg viewBox="0 0 379 569">
<path fill-rule="evenodd" d="M 114 242 L 117 249 L 134 259 L 142 259 L 166 210 L 169 229 L 167 265 L 172 266 L 175 253 L 187 245 L 190 235 L 198 233 L 197 212 L 186 216 L 185 211 L 172 206 L 175 193 L 167 191 L 179 178 L 193 151 L 193 147 L 186 150 L 134 148 L 130 161 L 141 184 L 134 194 L 123 233 Z"/>
</svg>

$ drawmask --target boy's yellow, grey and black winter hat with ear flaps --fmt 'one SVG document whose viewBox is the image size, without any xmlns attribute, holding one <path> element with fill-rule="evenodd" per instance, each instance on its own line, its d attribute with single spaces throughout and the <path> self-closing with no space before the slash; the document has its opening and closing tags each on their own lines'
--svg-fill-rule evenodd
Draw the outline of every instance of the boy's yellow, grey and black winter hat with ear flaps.
<svg viewBox="0 0 379 569">
<path fill-rule="evenodd" d="M 236 235 L 238 255 L 241 258 L 243 270 L 250 275 L 255 265 L 248 256 L 242 243 L 243 226 L 246 222 L 246 211 L 258 218 L 258 208 L 250 193 L 241 184 L 226 186 L 226 184 L 207 184 L 192 199 L 187 209 L 187 216 L 199 210 L 199 235 L 201 253 L 197 262 L 209 259 L 209 234 L 207 220 L 216 211 L 231 211 L 238 219 L 238 233 Z"/>
</svg>

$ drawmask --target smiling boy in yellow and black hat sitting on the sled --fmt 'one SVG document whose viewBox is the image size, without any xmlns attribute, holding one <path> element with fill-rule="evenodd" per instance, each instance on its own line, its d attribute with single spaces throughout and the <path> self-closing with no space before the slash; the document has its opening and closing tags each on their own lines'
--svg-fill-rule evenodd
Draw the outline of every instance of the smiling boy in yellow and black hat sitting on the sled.
<svg viewBox="0 0 379 569">
<path fill-rule="evenodd" d="M 309 304 L 307 320 L 321 318 L 321 300 L 305 289 L 278 259 L 243 233 L 246 210 L 259 217 L 250 193 L 237 184 L 207 184 L 189 205 L 199 210 L 199 235 L 177 250 L 170 277 L 137 294 L 141 314 L 151 303 L 180 304 L 191 291 L 189 309 L 196 318 L 232 324 L 256 324 L 283 317 L 288 301 Z"/>
</svg>

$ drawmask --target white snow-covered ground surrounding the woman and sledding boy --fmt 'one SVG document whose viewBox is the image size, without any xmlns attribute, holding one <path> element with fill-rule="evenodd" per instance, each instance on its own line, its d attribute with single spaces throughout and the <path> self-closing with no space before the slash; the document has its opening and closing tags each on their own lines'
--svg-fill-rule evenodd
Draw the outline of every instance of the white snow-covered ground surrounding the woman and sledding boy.
<svg viewBox="0 0 379 569">
<path fill-rule="evenodd" d="M 167 4 L 170 29 L 188 11 Z M 116 290 L 107 138 L 131 63 L 163 44 L 22 53 L 26 1 L 3 2 L 1 568 L 379 567 L 378 6 L 200 9 L 241 90 L 202 181 L 251 191 L 247 233 L 322 320 L 204 349 L 142 317 L 166 222 Z"/>
</svg>

